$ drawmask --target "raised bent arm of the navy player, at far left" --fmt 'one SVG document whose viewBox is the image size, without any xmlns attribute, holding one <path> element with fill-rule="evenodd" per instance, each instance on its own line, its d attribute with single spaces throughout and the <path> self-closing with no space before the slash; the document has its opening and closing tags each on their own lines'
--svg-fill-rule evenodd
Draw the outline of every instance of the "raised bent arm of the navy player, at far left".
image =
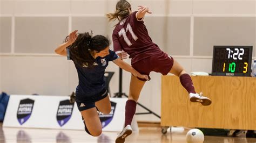
<svg viewBox="0 0 256 143">
<path fill-rule="evenodd" d="M 66 56 L 66 47 L 69 47 L 73 42 L 75 42 L 77 39 L 77 30 L 71 32 L 69 34 L 69 39 L 68 41 L 64 42 L 63 44 L 59 45 L 56 49 L 55 49 L 55 53 L 59 54 L 59 55 L 64 55 Z"/>
</svg>

